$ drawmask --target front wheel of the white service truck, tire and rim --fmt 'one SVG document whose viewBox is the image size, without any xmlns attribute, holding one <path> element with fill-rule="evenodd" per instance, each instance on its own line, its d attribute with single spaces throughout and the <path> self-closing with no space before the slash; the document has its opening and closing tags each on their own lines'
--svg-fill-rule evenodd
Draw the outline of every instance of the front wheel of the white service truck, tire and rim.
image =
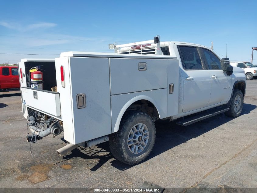
<svg viewBox="0 0 257 193">
<path fill-rule="evenodd" d="M 229 117 L 238 117 L 243 109 L 244 95 L 239 89 L 234 89 L 229 111 L 225 115 Z"/>
</svg>

